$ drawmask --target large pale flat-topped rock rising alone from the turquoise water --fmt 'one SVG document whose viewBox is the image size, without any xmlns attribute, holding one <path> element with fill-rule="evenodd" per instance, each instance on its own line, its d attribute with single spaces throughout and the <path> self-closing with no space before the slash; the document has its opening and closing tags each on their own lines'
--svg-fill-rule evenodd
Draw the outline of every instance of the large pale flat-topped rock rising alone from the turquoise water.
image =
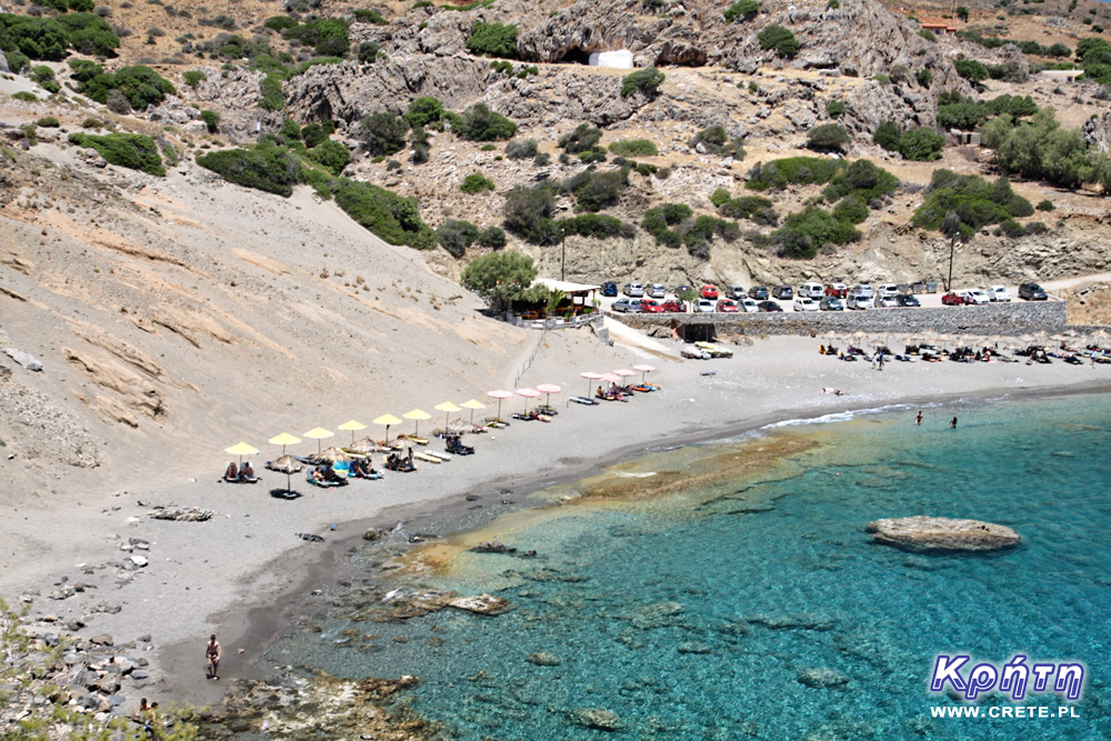
<svg viewBox="0 0 1111 741">
<path fill-rule="evenodd" d="M 1007 525 L 922 514 L 875 520 L 864 531 L 878 543 L 910 551 L 993 551 L 1012 548 L 1022 540 Z"/>
</svg>

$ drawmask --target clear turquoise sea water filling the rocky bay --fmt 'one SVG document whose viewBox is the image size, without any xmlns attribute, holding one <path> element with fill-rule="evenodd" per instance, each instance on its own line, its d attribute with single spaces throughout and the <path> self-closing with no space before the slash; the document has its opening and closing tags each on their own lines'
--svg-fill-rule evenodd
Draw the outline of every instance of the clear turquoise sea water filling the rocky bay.
<svg viewBox="0 0 1111 741">
<path fill-rule="evenodd" d="M 419 675 L 413 707 L 474 741 L 610 737 L 575 722 L 589 708 L 615 713 L 612 738 L 625 739 L 1111 738 L 1111 397 L 928 408 L 922 427 L 915 411 L 765 431 L 765 443 L 817 444 L 702 491 L 491 531 L 538 557 L 464 552 L 419 581 L 500 589 L 509 612 L 361 622 L 373 639 L 342 649 L 351 625 L 337 618 L 284 641 L 281 663 Z M 612 475 L 648 487 L 653 473 L 743 450 L 667 451 Z M 923 555 L 863 532 L 911 514 L 1007 524 L 1023 544 Z M 530 663 L 537 652 L 560 663 Z M 1084 662 L 1079 718 L 931 718 L 960 704 L 927 691 L 935 655 L 955 652 Z M 812 669 L 848 682 L 801 683 Z"/>
</svg>

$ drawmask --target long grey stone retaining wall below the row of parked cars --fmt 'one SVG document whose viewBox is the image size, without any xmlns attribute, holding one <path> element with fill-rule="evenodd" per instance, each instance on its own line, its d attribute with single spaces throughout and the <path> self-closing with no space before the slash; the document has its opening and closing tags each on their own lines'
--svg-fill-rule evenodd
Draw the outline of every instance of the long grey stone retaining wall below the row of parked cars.
<svg viewBox="0 0 1111 741">
<path fill-rule="evenodd" d="M 1067 328 L 1063 301 L 1023 301 L 972 307 L 808 311 L 783 313 L 609 314 L 637 329 L 712 324 L 731 334 L 828 334 L 830 332 L 898 334 L 1001 334 L 1060 332 Z M 682 331 L 682 330 L 681 330 Z"/>
</svg>

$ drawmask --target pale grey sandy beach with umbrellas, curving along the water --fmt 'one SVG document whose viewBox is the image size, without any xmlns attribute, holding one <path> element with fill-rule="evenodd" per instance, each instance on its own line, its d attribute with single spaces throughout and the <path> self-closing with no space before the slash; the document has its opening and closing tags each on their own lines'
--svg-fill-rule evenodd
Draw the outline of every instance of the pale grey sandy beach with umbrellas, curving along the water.
<svg viewBox="0 0 1111 741">
<path fill-rule="evenodd" d="M 907 424 L 924 409 L 923 425 L 940 428 L 953 415 L 964 417 L 962 402 L 1099 389 L 1111 381 L 1103 366 L 1027 364 L 1024 359 L 889 362 L 880 371 L 867 361 L 821 356 L 821 340 L 811 338 L 757 339 L 748 347 L 731 346 L 730 359 L 680 361 L 673 354 L 677 344 L 620 329 L 613 347 L 577 343 L 569 333 L 549 337 L 548 351 L 536 358 L 518 387 L 563 387 L 563 393 L 552 398 L 560 413 L 551 423 L 512 421 L 507 429 L 467 435 L 464 441 L 477 449 L 472 457 L 434 467 L 418 462 L 416 473 L 388 472 L 383 480 L 352 481 L 339 490 L 314 489 L 303 474 L 294 477 L 293 488 L 304 495 L 293 501 L 268 495 L 286 483 L 283 475 L 262 468 L 267 458 L 279 454 L 274 450 L 254 460 L 263 479 L 258 484 L 221 483 L 222 459 L 207 455 L 191 473 L 157 487 L 119 481 L 114 490 L 82 492 L 50 507 L 6 507 L 8 527 L 0 547 L 12 557 L 0 570 L 0 593 L 14 601 L 38 590 L 30 612 L 37 630 L 81 618 L 81 635 L 108 633 L 117 644 L 149 635 L 149 643 L 139 644 L 139 650 L 150 648 L 144 653 L 150 658 L 149 677 L 132 694 L 141 691 L 164 703 L 212 704 L 222 684 L 204 678 L 207 637 L 216 632 L 223 644 L 221 681 L 253 675 L 252 661 L 281 627 L 287 600 L 329 585 L 344 541 L 360 538 L 371 524 L 392 527 L 400 512 L 433 511 L 464 502 L 467 495 L 497 509 L 503 499 L 580 478 L 638 452 L 735 435 L 789 419 L 902 404 Z M 644 362 L 657 368 L 650 380 L 662 387 L 660 391 L 638 394 L 628 403 L 568 404 L 568 395 L 587 393 L 589 384 L 597 383 L 579 378 L 580 372 Z M 823 388 L 843 394 L 823 393 Z M 419 379 L 409 392 L 413 403 L 424 408 L 441 401 L 424 399 Z M 506 401 L 502 417 L 523 402 Z M 422 430 L 437 422 L 424 424 L 429 427 Z M 409 431 L 408 425 L 393 431 Z M 227 430 L 222 437 L 230 441 L 240 435 Z M 306 440 L 291 452 L 308 454 L 310 445 L 316 448 Z M 381 462 L 378 457 L 376 464 Z M 172 468 L 187 467 L 179 460 Z M 217 514 L 203 522 L 148 517 L 152 508 L 170 504 Z M 323 542 L 308 542 L 297 533 L 319 534 Z M 149 548 L 120 549 L 132 539 Z M 141 554 L 146 565 L 121 565 L 131 554 Z M 63 600 L 48 599 L 58 585 L 79 581 L 89 587 Z M 49 623 L 34 622 L 47 613 L 53 618 Z"/>
</svg>

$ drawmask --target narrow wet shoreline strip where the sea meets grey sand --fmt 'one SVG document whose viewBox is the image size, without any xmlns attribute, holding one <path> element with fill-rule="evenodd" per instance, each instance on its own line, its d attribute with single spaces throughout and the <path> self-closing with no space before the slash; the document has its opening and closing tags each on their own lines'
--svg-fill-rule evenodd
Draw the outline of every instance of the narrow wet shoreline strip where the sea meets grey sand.
<svg viewBox="0 0 1111 741">
<path fill-rule="evenodd" d="M 998 400 L 1010 401 L 1051 399 L 1059 397 L 1082 395 L 1088 393 L 1111 393 L 1111 382 L 1088 381 L 1054 387 L 1021 388 L 1018 390 L 985 388 L 979 390 L 974 394 L 954 393 L 929 398 L 911 395 L 905 399 L 890 401 L 879 407 L 857 407 L 845 402 L 841 404 L 840 408 L 833 410 L 818 409 L 817 407 L 792 409 L 790 411 L 795 414 L 794 417 L 772 414 L 760 419 L 740 421 L 727 427 L 723 430 L 702 428 L 681 435 L 673 441 L 669 441 L 667 445 L 645 444 L 644 441 L 632 443 L 623 448 L 612 450 L 605 457 L 598 460 L 580 460 L 578 461 L 578 464 L 569 465 L 565 468 L 563 473 L 556 478 L 536 477 L 523 481 L 517 481 L 516 487 L 512 490 L 512 495 L 514 498 L 524 498 L 550 487 L 579 481 L 584 478 L 595 475 L 603 470 L 618 465 L 624 461 L 640 458 L 655 451 L 671 450 L 708 442 L 724 442 L 752 432 L 762 430 L 772 431 L 779 427 L 789 425 L 792 422 L 811 424 L 821 423 L 820 420 L 822 420 L 822 418 L 837 414 L 851 414 L 853 417 L 859 417 L 862 413 L 890 413 L 899 408 L 922 407 L 924 409 L 930 409 L 952 404 L 969 404 L 974 407 Z M 837 420 L 830 420 L 830 422 L 833 421 Z M 504 484 L 510 482 L 510 477 L 502 477 L 488 482 L 487 489 L 503 490 Z M 470 504 L 470 502 L 466 501 L 453 501 L 453 498 L 457 495 L 458 494 L 454 493 L 448 493 L 439 499 L 426 502 L 398 504 L 387 508 L 371 518 L 339 523 L 338 527 L 340 529 L 353 529 L 353 532 L 346 534 L 341 539 L 331 541 L 328 548 L 320 552 L 317 558 L 298 563 L 296 571 L 299 574 L 299 578 L 293 579 L 293 581 L 297 582 L 296 585 L 277 592 L 268 598 L 260 598 L 254 604 L 243 605 L 240 609 L 229 611 L 220 620 L 220 630 L 231 638 L 231 643 L 239 642 L 246 647 L 243 653 L 239 654 L 242 670 L 237 674 L 237 678 L 257 679 L 262 677 L 263 672 L 259 667 L 259 662 L 269 652 L 270 648 L 280 635 L 296 629 L 296 618 L 276 617 L 276 608 L 278 603 L 288 601 L 290 603 L 297 602 L 304 604 L 304 598 L 309 597 L 314 590 L 321 589 L 321 580 L 328 582 L 328 585 L 323 587 L 326 590 L 328 587 L 336 587 L 340 581 L 342 581 L 341 573 L 344 568 L 344 553 L 363 540 L 363 532 L 371 528 L 380 528 L 389 531 L 394 524 L 399 524 L 400 522 L 412 522 L 414 520 L 442 520 L 446 517 L 458 513 L 467 504 Z M 497 522 L 499 519 L 511 512 L 544 509 L 550 507 L 552 507 L 551 503 L 538 502 L 513 507 L 499 512 L 489 512 L 488 514 L 491 514 L 491 517 L 489 520 L 484 521 L 483 525 Z M 454 534 L 468 532 L 472 529 L 476 529 L 476 525 L 468 525 L 450 532 Z M 306 609 L 298 611 L 298 615 L 304 615 L 306 613 L 317 609 L 319 609 L 319 605 L 306 605 Z M 202 639 L 203 637 L 197 637 L 188 642 L 181 642 L 167 647 L 163 649 L 163 653 L 168 655 L 184 657 L 188 652 L 193 651 L 196 645 L 199 644 L 199 641 L 202 641 Z M 194 682 L 187 681 L 183 683 L 181 689 L 184 690 L 190 684 L 194 684 Z M 172 693 L 172 690 L 177 688 L 171 683 L 167 689 Z"/>
</svg>

